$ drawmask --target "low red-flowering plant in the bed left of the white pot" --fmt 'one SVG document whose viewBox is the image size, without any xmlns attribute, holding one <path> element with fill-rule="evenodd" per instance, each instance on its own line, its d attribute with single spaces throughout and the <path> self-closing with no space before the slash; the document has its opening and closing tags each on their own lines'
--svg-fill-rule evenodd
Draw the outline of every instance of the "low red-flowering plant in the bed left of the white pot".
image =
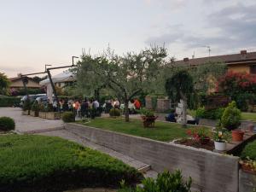
<svg viewBox="0 0 256 192">
<path fill-rule="evenodd" d="M 195 143 L 207 144 L 210 142 L 210 131 L 207 128 L 194 128 L 187 131 L 187 134 L 192 137 Z"/>
</svg>

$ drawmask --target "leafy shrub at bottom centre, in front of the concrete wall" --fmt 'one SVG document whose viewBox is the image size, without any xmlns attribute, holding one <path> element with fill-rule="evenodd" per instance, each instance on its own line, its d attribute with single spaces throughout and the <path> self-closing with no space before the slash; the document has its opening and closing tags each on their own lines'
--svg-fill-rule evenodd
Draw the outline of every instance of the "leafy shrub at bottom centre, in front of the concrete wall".
<svg viewBox="0 0 256 192">
<path fill-rule="evenodd" d="M 157 178 L 145 178 L 143 179 L 143 188 L 137 186 L 137 189 L 131 189 L 125 187 L 125 183 L 121 183 L 121 189 L 119 192 L 156 192 L 156 191 L 180 191 L 190 192 L 192 179 L 189 177 L 188 181 L 184 181 L 182 172 L 177 170 L 176 172 L 163 172 L 158 174 Z"/>
</svg>

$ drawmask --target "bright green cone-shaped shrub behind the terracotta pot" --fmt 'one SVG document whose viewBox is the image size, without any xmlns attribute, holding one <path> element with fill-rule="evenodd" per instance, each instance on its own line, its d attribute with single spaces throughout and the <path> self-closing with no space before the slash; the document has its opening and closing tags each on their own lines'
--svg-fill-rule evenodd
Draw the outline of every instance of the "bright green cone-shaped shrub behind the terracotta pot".
<svg viewBox="0 0 256 192">
<path fill-rule="evenodd" d="M 221 125 L 228 130 L 234 130 L 240 125 L 241 111 L 236 108 L 236 102 L 230 102 L 229 106 L 224 109 L 221 118 Z"/>
</svg>

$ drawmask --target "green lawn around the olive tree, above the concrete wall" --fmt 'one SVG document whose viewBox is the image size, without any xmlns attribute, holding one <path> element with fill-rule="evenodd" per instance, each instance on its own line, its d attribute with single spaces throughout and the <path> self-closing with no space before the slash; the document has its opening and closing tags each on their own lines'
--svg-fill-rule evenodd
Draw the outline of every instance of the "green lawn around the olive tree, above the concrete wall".
<svg viewBox="0 0 256 192">
<path fill-rule="evenodd" d="M 117 131 L 125 134 L 130 134 L 138 137 L 147 137 L 150 139 L 168 142 L 173 139 L 186 137 L 186 130 L 179 124 L 155 122 L 154 128 L 144 128 L 142 120 L 130 119 L 126 123 L 124 119 L 118 118 L 97 118 L 90 120 L 89 123 L 79 124 L 89 125 L 109 131 Z"/>
</svg>

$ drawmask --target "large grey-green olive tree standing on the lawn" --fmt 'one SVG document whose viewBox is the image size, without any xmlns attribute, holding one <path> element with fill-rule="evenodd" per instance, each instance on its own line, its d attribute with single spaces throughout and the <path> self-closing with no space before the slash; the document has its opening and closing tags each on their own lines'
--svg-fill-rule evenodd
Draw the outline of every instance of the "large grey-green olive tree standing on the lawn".
<svg viewBox="0 0 256 192">
<path fill-rule="evenodd" d="M 75 69 L 78 88 L 92 95 L 95 90 L 108 88 L 125 103 L 125 121 L 129 121 L 128 102 L 147 90 L 159 77 L 166 49 L 152 47 L 139 54 L 114 55 L 108 49 L 101 56 L 82 55 Z"/>
</svg>

